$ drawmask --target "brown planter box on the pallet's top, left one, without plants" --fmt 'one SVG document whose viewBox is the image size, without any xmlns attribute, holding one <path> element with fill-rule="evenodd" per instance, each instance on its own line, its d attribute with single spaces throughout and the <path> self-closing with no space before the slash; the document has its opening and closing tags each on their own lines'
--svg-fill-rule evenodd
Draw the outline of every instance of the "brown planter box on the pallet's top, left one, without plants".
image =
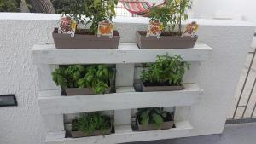
<svg viewBox="0 0 256 144">
<path fill-rule="evenodd" d="M 70 34 L 57 33 L 57 30 L 52 33 L 52 36 L 56 49 L 118 49 L 120 40 L 117 31 L 113 32 L 112 38 L 83 34 L 75 34 L 75 37 L 71 37 Z"/>
</svg>

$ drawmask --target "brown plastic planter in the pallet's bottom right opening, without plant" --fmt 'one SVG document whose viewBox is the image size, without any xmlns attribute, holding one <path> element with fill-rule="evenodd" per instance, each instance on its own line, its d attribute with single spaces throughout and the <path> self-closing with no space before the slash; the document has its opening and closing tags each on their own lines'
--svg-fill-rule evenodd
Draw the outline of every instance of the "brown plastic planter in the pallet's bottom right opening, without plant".
<svg viewBox="0 0 256 144">
<path fill-rule="evenodd" d="M 164 122 L 160 128 L 158 128 L 157 126 L 155 126 L 154 124 L 148 124 L 147 126 L 143 126 L 141 124 L 139 124 L 138 118 L 136 117 L 136 121 L 137 121 L 137 128 L 138 131 L 148 131 L 148 130 L 168 130 L 171 129 L 174 125 L 174 121 L 167 121 Z"/>
</svg>

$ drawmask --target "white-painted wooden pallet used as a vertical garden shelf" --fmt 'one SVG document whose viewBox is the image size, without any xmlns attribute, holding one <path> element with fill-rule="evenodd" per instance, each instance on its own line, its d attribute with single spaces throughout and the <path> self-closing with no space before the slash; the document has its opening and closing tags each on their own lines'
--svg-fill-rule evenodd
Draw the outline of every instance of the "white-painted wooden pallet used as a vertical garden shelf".
<svg viewBox="0 0 256 144">
<path fill-rule="evenodd" d="M 212 48 L 196 43 L 191 49 L 138 49 L 136 43 L 120 43 L 119 49 L 55 49 L 54 44 L 38 44 L 32 49 L 32 60 L 38 67 L 38 103 L 47 130 L 47 144 L 115 144 L 184 137 L 193 130 L 183 112 L 199 102 L 203 89 L 197 84 L 184 84 L 180 91 L 135 92 L 135 64 L 154 62 L 157 55 L 181 55 L 184 61 L 209 60 Z M 116 93 L 106 95 L 61 96 L 52 81 L 51 72 L 58 65 L 116 64 Z M 177 107 L 176 128 L 133 132 L 131 109 L 142 107 Z M 115 133 L 106 136 L 65 138 L 63 114 L 114 110 Z"/>
</svg>

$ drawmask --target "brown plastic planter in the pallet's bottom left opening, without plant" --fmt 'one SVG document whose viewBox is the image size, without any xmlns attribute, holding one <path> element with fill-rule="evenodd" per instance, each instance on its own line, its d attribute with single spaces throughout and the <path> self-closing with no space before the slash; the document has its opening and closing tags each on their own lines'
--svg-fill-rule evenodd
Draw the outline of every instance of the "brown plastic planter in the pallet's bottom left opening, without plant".
<svg viewBox="0 0 256 144">
<path fill-rule="evenodd" d="M 82 131 L 71 131 L 71 137 L 79 138 L 79 137 L 89 137 L 89 136 L 97 136 L 97 135 L 110 135 L 112 131 L 113 123 L 111 122 L 111 126 L 108 130 L 96 130 L 91 134 L 83 133 Z"/>
</svg>

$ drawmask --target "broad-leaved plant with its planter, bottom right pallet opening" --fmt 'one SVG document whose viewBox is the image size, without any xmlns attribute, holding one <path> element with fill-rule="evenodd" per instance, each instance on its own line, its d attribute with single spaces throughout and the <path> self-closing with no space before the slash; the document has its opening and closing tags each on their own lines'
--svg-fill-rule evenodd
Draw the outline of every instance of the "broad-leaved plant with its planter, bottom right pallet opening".
<svg viewBox="0 0 256 144">
<path fill-rule="evenodd" d="M 140 108 L 136 114 L 137 130 L 166 130 L 171 129 L 174 121 L 170 112 L 163 107 Z"/>
</svg>

